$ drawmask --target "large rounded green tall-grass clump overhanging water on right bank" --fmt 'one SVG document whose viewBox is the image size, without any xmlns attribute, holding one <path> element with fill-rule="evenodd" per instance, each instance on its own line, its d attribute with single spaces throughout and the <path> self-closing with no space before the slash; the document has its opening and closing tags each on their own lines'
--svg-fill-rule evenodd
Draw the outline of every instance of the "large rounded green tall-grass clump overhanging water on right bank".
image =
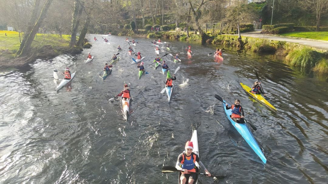
<svg viewBox="0 0 328 184">
<path fill-rule="evenodd" d="M 310 48 L 293 50 L 286 56 L 289 65 L 298 67 L 314 67 L 320 59 L 320 53 Z"/>
</svg>

